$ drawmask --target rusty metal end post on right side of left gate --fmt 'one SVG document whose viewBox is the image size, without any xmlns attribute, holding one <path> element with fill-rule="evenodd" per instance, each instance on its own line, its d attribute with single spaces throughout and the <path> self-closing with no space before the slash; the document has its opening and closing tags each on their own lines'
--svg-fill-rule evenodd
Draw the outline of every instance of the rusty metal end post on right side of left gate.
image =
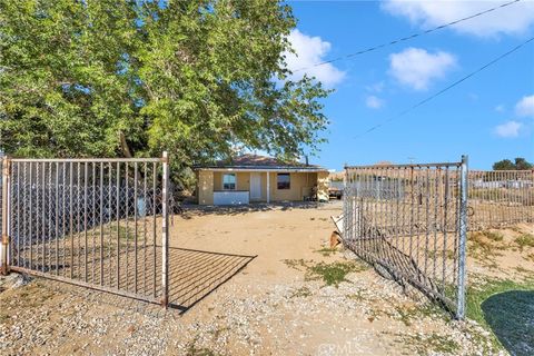
<svg viewBox="0 0 534 356">
<path fill-rule="evenodd" d="M 169 157 L 164 151 L 161 180 L 161 288 L 164 291 L 161 305 L 167 308 L 169 304 L 169 214 L 168 214 L 168 189 L 169 189 Z"/>
</svg>

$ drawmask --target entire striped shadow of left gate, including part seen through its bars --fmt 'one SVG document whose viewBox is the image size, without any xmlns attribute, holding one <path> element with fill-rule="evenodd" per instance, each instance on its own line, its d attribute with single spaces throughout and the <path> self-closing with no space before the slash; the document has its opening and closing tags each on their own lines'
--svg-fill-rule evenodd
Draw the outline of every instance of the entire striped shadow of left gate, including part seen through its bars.
<svg viewBox="0 0 534 356">
<path fill-rule="evenodd" d="M 43 248 L 39 249 L 40 255 L 37 248 L 33 249 L 32 259 L 27 259 L 26 255 L 20 255 L 24 258 L 19 256 L 20 266 L 24 267 L 21 268 L 22 273 L 31 270 L 30 274 L 42 277 L 85 284 L 88 287 L 86 289 L 91 291 L 107 288 L 107 291 L 116 295 L 129 293 L 132 299 L 156 304 L 161 300 L 161 246 L 148 246 L 146 240 L 139 240 L 137 244 L 130 241 L 129 246 L 122 244 L 120 253 L 111 253 L 109 246 L 101 250 L 67 248 L 61 249 L 60 254 L 70 257 L 58 257 L 60 264 L 51 261 L 50 255 L 59 254 L 50 247 L 48 255 L 42 254 Z M 169 306 L 179 313 L 187 312 L 236 276 L 256 256 L 169 247 Z M 61 259 L 65 264 L 61 264 Z M 3 286 L 0 284 L 0 291 L 1 288 Z"/>
</svg>

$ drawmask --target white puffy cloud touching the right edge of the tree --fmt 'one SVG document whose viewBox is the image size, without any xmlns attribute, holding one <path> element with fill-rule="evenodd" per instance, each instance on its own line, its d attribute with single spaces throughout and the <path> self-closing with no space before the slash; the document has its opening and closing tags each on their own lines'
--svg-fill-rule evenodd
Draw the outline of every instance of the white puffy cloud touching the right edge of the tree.
<svg viewBox="0 0 534 356">
<path fill-rule="evenodd" d="M 345 72 L 332 63 L 315 66 L 325 61 L 325 56 L 332 47 L 329 42 L 323 41 L 320 37 L 304 34 L 298 29 L 291 30 L 288 39 L 296 53 L 284 53 L 287 67 L 291 71 L 307 68 L 306 70 L 295 72 L 291 79 L 300 79 L 306 72 L 308 76 L 317 78 L 325 86 L 334 87 L 345 78 Z"/>
</svg>

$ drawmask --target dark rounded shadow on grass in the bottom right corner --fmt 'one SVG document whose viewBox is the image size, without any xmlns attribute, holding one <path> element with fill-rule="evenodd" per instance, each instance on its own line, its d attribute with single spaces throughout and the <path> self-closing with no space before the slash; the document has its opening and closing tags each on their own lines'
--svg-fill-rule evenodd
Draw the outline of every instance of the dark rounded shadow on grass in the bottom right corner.
<svg viewBox="0 0 534 356">
<path fill-rule="evenodd" d="M 496 294 L 484 300 L 482 310 L 511 355 L 534 355 L 534 290 Z"/>
</svg>

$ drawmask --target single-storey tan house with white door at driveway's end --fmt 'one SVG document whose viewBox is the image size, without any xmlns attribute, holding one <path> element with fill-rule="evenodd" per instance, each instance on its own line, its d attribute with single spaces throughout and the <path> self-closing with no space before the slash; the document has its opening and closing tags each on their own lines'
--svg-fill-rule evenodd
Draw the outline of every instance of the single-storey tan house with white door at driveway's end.
<svg viewBox="0 0 534 356">
<path fill-rule="evenodd" d="M 328 170 L 318 166 L 244 155 L 195 170 L 200 205 L 328 200 Z"/>
</svg>

